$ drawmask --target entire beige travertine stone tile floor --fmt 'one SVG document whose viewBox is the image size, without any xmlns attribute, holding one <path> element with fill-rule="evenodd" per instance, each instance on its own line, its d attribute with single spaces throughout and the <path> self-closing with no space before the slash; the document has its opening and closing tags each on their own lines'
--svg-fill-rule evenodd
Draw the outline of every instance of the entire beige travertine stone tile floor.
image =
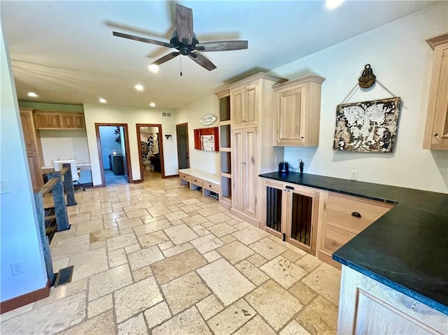
<svg viewBox="0 0 448 335">
<path fill-rule="evenodd" d="M 71 283 L 3 313 L 1 334 L 336 333 L 339 270 L 176 178 L 76 200 L 52 241 Z"/>
</svg>

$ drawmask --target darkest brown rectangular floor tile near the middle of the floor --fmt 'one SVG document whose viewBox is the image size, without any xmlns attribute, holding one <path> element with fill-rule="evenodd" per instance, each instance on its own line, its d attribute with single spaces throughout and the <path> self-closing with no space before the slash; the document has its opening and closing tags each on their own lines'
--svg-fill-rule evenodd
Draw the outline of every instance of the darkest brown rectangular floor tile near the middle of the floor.
<svg viewBox="0 0 448 335">
<path fill-rule="evenodd" d="M 204 257 L 196 249 L 191 249 L 152 264 L 151 268 L 158 283 L 162 285 L 205 264 L 207 264 L 207 261 Z"/>
</svg>

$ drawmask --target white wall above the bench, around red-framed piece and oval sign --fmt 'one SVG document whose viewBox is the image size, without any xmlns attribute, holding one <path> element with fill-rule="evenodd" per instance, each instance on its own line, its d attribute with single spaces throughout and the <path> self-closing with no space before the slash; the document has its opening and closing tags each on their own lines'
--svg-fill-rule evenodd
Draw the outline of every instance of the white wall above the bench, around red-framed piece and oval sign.
<svg viewBox="0 0 448 335">
<path fill-rule="evenodd" d="M 218 99 L 214 95 L 194 101 L 192 104 L 177 109 L 175 115 L 176 124 L 188 122 L 190 167 L 219 174 L 219 152 L 195 150 L 194 129 L 219 127 L 219 121 L 209 126 L 201 124 L 200 118 L 209 114 L 216 115 L 219 120 Z"/>
</svg>

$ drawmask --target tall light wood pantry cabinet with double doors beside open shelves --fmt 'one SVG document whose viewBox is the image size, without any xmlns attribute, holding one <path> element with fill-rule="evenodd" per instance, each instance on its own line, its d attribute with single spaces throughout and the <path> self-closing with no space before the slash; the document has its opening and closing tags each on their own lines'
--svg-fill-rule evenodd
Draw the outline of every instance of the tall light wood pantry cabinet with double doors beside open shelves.
<svg viewBox="0 0 448 335">
<path fill-rule="evenodd" d="M 275 104 L 272 86 L 286 79 L 258 73 L 229 86 L 232 129 L 232 208 L 235 216 L 260 227 L 260 173 L 274 171 L 283 148 L 272 146 Z"/>
</svg>

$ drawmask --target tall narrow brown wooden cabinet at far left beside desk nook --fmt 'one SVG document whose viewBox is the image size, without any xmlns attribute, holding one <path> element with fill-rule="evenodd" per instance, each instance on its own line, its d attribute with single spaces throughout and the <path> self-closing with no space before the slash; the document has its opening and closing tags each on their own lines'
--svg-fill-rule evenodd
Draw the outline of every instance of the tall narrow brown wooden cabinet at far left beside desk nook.
<svg viewBox="0 0 448 335">
<path fill-rule="evenodd" d="M 38 132 L 34 128 L 33 110 L 20 108 L 20 120 L 22 122 L 25 148 L 27 150 L 31 185 L 33 185 L 33 190 L 36 192 L 43 186 L 43 176 L 41 171 L 43 157 L 41 139 L 39 138 Z"/>
</svg>

